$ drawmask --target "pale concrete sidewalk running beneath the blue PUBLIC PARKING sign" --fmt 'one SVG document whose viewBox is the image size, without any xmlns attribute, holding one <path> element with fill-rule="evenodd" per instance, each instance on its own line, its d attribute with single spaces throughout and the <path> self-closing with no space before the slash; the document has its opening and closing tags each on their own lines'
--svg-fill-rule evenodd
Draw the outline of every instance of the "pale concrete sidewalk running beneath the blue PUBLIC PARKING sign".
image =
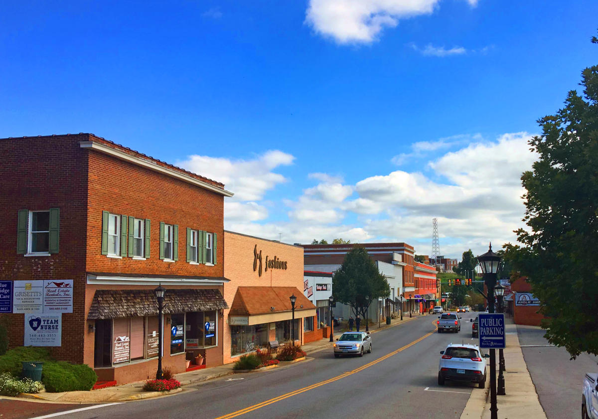
<svg viewBox="0 0 598 419">
<path fill-rule="evenodd" d="M 532 378 L 527 365 L 523 359 L 523 353 L 517 337 L 517 326 L 512 319 L 505 319 L 505 331 L 507 332 L 507 347 L 504 349 L 505 356 L 505 396 L 496 396 L 498 406 L 498 417 L 508 419 L 546 419 L 546 414 L 540 405 L 536 388 L 533 386 Z M 496 377 L 498 380 L 498 350 L 496 350 Z M 490 378 L 490 370 L 487 373 Z M 463 409 L 461 419 L 490 419 L 490 380 L 486 381 L 486 389 L 483 392 L 473 391 Z"/>
</svg>

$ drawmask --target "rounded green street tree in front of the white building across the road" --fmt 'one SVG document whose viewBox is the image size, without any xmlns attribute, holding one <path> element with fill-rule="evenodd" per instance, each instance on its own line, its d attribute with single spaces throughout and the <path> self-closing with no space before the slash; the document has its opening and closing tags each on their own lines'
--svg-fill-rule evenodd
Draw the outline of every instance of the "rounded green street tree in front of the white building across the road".
<svg viewBox="0 0 598 419">
<path fill-rule="evenodd" d="M 367 250 L 353 247 L 332 276 L 332 295 L 336 301 L 350 305 L 356 316 L 365 317 L 372 301 L 390 295 L 390 287 Z"/>
</svg>

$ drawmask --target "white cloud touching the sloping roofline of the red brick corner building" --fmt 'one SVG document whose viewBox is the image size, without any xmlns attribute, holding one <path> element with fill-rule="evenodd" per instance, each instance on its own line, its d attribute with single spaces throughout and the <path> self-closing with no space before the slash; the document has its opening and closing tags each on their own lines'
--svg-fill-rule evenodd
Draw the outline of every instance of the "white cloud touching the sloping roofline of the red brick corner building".
<svg viewBox="0 0 598 419">
<path fill-rule="evenodd" d="M 272 170 L 288 166 L 293 160 L 294 157 L 290 154 L 271 150 L 253 160 L 190 155 L 187 160 L 178 161 L 176 165 L 224 183 L 226 189 L 234 192 L 233 201 L 259 201 L 267 191 L 286 182 L 284 176 Z"/>
</svg>

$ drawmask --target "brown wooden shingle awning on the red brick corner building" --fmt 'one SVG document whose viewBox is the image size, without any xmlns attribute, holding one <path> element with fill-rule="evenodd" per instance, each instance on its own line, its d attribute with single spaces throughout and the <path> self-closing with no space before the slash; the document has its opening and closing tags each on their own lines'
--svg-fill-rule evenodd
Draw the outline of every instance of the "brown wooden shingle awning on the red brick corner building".
<svg viewBox="0 0 598 419">
<path fill-rule="evenodd" d="M 228 308 L 217 289 L 172 289 L 164 297 L 164 314 Z M 91 301 L 87 320 L 155 316 L 158 302 L 151 289 L 101 289 Z"/>
</svg>

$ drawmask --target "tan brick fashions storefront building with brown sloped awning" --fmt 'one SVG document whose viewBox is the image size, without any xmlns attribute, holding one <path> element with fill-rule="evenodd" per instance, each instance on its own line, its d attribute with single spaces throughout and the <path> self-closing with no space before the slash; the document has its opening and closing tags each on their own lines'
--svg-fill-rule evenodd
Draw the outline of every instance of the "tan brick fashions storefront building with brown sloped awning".
<svg viewBox="0 0 598 419">
<path fill-rule="evenodd" d="M 230 306 L 224 310 L 224 363 L 271 341 L 291 339 L 291 328 L 300 344 L 322 338 L 316 307 L 301 292 L 303 247 L 224 231 L 224 276 L 230 280 L 224 286 Z"/>
</svg>

